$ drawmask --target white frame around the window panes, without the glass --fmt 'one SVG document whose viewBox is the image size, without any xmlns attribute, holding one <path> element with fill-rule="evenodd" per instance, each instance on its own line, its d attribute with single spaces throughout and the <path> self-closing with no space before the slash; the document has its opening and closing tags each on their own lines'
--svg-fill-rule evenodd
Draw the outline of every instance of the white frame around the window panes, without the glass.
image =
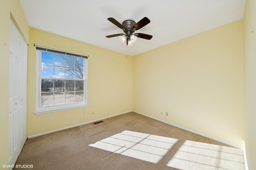
<svg viewBox="0 0 256 170">
<path fill-rule="evenodd" d="M 74 57 L 81 56 L 82 58 L 84 58 L 84 95 L 85 95 L 84 102 L 41 106 L 40 104 L 41 80 L 44 79 L 41 77 L 42 76 L 42 55 L 40 53 L 42 53 L 42 51 L 49 51 L 51 53 L 54 53 L 54 51 L 56 51 L 56 54 L 60 52 L 60 53 L 65 53 L 64 55 L 74 56 Z M 67 79 L 67 80 L 70 80 L 70 79 Z M 44 113 L 52 113 L 57 111 L 70 110 L 70 109 L 78 109 L 78 108 L 83 108 L 88 106 L 89 106 L 88 104 L 88 56 L 36 45 L 36 111 L 34 112 L 34 114 L 39 115 Z"/>
</svg>

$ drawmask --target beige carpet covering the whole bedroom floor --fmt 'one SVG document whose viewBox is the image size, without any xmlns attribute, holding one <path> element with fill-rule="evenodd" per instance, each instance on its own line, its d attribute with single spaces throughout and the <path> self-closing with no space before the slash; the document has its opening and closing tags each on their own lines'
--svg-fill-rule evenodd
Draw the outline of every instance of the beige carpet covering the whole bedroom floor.
<svg viewBox="0 0 256 170">
<path fill-rule="evenodd" d="M 242 150 L 154 119 L 131 112 L 103 121 L 28 139 L 16 164 L 33 170 L 245 169 Z"/>
</svg>

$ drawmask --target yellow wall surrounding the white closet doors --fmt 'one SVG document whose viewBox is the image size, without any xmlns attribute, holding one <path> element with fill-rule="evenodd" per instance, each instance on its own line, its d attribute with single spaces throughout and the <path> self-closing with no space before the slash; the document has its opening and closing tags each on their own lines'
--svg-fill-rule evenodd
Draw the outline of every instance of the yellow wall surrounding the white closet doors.
<svg viewBox="0 0 256 170">
<path fill-rule="evenodd" d="M 0 167 L 8 164 L 9 145 L 9 42 L 10 42 L 10 16 L 24 40 L 29 42 L 28 22 L 24 16 L 19 0 L 0 0 Z"/>
</svg>

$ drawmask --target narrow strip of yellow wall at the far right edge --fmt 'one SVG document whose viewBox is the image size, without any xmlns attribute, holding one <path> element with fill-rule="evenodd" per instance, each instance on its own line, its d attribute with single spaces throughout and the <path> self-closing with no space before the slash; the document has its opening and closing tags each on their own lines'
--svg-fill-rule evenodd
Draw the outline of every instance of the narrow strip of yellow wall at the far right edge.
<svg viewBox="0 0 256 170">
<path fill-rule="evenodd" d="M 252 32 L 253 31 L 253 32 Z M 246 0 L 244 13 L 245 148 L 249 170 L 256 169 L 256 1 Z"/>
</svg>

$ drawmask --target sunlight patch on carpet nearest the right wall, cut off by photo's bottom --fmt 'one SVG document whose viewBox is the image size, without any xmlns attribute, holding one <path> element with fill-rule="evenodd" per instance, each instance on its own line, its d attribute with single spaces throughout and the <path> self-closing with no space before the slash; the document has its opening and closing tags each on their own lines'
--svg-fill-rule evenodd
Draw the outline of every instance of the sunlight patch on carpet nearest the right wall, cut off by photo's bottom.
<svg viewBox="0 0 256 170">
<path fill-rule="evenodd" d="M 186 140 L 166 166 L 178 169 L 244 170 L 241 149 Z"/>
</svg>

